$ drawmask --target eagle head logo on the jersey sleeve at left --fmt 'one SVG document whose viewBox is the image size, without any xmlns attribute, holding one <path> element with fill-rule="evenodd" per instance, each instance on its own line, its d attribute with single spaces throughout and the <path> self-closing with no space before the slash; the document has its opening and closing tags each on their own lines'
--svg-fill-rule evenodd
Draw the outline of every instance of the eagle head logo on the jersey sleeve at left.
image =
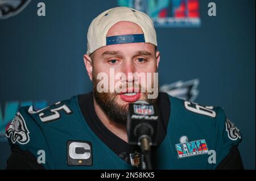
<svg viewBox="0 0 256 181">
<path fill-rule="evenodd" d="M 5 136 L 7 138 L 10 138 L 11 142 L 15 144 L 15 142 L 18 142 L 19 144 L 27 144 L 28 141 L 30 141 L 30 137 L 28 136 L 30 132 L 27 129 L 26 123 L 20 115 L 20 113 L 16 113 L 13 121 L 11 121 L 11 124 L 9 125 L 9 128 L 6 131 Z"/>
</svg>

